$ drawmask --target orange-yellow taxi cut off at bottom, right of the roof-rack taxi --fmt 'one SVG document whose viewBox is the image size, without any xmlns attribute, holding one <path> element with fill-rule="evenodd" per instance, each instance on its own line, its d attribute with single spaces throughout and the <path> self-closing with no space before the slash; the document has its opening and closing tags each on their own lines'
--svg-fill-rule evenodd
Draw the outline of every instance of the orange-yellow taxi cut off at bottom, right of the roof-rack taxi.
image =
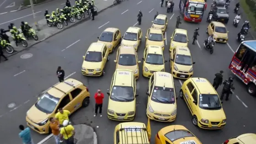
<svg viewBox="0 0 256 144">
<path fill-rule="evenodd" d="M 197 137 L 182 125 L 171 125 L 160 129 L 155 144 L 202 144 Z"/>
</svg>

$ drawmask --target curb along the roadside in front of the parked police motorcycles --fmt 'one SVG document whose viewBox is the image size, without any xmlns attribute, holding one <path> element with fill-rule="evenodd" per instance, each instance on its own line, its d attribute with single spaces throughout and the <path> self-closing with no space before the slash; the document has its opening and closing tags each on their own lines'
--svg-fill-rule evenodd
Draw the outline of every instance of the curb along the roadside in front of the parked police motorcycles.
<svg viewBox="0 0 256 144">
<path fill-rule="evenodd" d="M 114 4 L 112 4 L 112 5 L 110 5 L 110 6 L 107 6 L 106 8 L 102 9 L 101 11 L 98 11 L 98 14 L 100 14 L 102 11 L 107 10 L 108 8 L 111 8 L 113 5 L 114 5 Z M 20 52 L 22 52 L 22 51 L 24 51 L 24 50 L 26 50 L 26 49 L 28 49 L 28 48 L 31 48 L 31 47 L 33 47 L 34 45 L 36 45 L 37 43 L 41 43 L 41 42 L 43 42 L 44 40 L 46 40 L 46 39 L 48 39 L 48 38 L 50 38 L 50 37 L 53 37 L 53 36 L 57 35 L 58 33 L 63 32 L 63 31 L 66 30 L 66 29 L 69 29 L 70 27 L 73 27 L 73 26 L 76 26 L 76 25 L 78 25 L 78 24 L 80 24 L 80 23 L 82 23 L 82 22 L 88 21 L 89 19 L 90 19 L 90 17 L 87 16 L 86 18 L 84 18 L 84 19 L 82 19 L 82 20 L 80 20 L 80 21 L 78 21 L 78 22 L 75 22 L 73 25 L 69 25 L 69 26 L 67 26 L 67 27 L 65 27 L 65 28 L 63 28 L 63 29 L 61 29 L 59 32 L 56 32 L 56 33 L 54 33 L 54 34 L 52 34 L 52 35 L 50 35 L 50 36 L 48 36 L 48 37 L 45 37 L 44 39 L 42 39 L 42 40 L 40 40 L 40 41 L 38 41 L 38 42 L 36 42 L 36 43 L 31 44 L 31 45 L 28 46 L 27 48 L 24 48 L 24 49 L 22 49 L 22 50 L 20 50 L 20 51 L 16 51 L 16 52 L 14 52 L 14 53 L 11 53 L 11 55 L 8 55 L 8 56 L 6 56 L 6 57 L 7 57 L 7 58 L 8 58 L 8 57 L 11 57 L 12 55 L 15 55 L 15 54 L 20 53 Z"/>
</svg>

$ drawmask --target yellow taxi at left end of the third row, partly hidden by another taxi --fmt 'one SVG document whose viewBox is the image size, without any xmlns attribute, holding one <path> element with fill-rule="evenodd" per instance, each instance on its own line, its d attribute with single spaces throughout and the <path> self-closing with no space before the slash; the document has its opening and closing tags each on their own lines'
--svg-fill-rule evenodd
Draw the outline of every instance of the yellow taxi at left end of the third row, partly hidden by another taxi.
<svg viewBox="0 0 256 144">
<path fill-rule="evenodd" d="M 106 28 L 101 36 L 98 37 L 97 43 L 105 43 L 107 45 L 108 51 L 112 53 L 114 48 L 121 43 L 121 32 L 118 28 L 109 27 Z"/>
</svg>

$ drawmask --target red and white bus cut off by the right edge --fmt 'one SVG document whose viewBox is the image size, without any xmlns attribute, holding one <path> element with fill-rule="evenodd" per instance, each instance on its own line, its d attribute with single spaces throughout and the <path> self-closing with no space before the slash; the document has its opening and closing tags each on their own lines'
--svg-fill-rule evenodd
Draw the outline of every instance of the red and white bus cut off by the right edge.
<svg viewBox="0 0 256 144">
<path fill-rule="evenodd" d="M 256 96 L 256 41 L 240 43 L 229 69 L 247 85 L 248 93 Z"/>
</svg>

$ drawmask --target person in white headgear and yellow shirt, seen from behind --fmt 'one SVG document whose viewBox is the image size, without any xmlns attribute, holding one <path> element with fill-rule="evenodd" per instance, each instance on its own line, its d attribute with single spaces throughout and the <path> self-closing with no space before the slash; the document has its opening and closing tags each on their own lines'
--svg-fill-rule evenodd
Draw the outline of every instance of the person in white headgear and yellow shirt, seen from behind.
<svg viewBox="0 0 256 144">
<path fill-rule="evenodd" d="M 63 127 L 60 128 L 60 136 L 64 139 L 66 144 L 75 144 L 74 143 L 74 135 L 75 128 L 69 124 L 68 120 L 64 120 Z"/>
</svg>

